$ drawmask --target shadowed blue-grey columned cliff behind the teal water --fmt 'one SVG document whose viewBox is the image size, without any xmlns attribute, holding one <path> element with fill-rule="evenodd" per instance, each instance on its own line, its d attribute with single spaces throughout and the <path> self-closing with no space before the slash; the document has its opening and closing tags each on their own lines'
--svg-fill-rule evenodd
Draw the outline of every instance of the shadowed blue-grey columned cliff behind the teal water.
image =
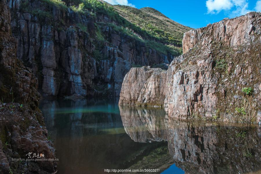
<svg viewBox="0 0 261 174">
<path fill-rule="evenodd" d="M 18 39 L 17 58 L 37 75 L 44 97 L 119 97 L 133 64 L 173 60 L 171 53 L 162 54 L 117 29 L 117 21 L 106 14 L 78 13 L 63 1 L 61 6 L 41 0 L 8 4 L 12 34 Z"/>
</svg>

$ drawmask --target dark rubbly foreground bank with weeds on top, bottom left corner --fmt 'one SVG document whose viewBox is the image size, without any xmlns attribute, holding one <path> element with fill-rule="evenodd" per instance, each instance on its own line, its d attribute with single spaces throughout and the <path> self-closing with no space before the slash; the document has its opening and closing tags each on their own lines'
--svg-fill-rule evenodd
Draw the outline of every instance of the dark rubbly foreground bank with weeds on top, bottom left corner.
<svg viewBox="0 0 261 174">
<path fill-rule="evenodd" d="M 14 107 L 9 109 L 9 107 Z M 10 111 L 11 110 L 11 111 Z M 42 112 L 28 105 L 20 108 L 18 103 L 9 103 L 0 112 L 0 172 L 1 173 L 55 173 L 57 161 L 28 160 L 28 153 L 44 154 L 45 159 L 56 159 L 55 148 L 48 139 Z M 34 158 L 35 159 L 35 158 Z"/>
</svg>

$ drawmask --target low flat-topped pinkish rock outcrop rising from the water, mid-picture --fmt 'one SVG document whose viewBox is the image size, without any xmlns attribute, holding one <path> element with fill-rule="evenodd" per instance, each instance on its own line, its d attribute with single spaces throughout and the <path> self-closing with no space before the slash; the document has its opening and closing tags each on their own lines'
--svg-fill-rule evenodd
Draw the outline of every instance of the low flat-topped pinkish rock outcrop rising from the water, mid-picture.
<svg viewBox="0 0 261 174">
<path fill-rule="evenodd" d="M 161 68 L 132 68 L 124 77 L 119 105 L 162 106 L 167 72 Z"/>
</svg>

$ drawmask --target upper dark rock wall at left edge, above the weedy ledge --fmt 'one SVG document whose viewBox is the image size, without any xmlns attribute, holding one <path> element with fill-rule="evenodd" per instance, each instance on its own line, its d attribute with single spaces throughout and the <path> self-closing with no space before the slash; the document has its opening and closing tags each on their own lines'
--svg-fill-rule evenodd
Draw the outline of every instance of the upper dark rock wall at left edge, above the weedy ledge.
<svg viewBox="0 0 261 174">
<path fill-rule="evenodd" d="M 14 99 L 28 102 L 32 108 L 36 108 L 40 99 L 37 78 L 31 69 L 26 68 L 16 58 L 17 39 L 11 34 L 10 10 L 5 2 L 1 2 L 0 10 L 0 96 L 5 98 L 6 102 Z"/>
</svg>

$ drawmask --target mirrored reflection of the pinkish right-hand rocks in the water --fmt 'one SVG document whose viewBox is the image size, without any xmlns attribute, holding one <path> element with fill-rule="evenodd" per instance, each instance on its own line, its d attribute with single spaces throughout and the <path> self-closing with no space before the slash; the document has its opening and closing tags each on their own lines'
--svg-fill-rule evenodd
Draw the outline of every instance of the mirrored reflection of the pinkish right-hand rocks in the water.
<svg viewBox="0 0 261 174">
<path fill-rule="evenodd" d="M 261 169 L 260 127 L 184 122 L 161 109 L 120 106 L 126 133 L 137 142 L 168 142 L 175 165 L 186 173 L 247 173 Z"/>
</svg>

